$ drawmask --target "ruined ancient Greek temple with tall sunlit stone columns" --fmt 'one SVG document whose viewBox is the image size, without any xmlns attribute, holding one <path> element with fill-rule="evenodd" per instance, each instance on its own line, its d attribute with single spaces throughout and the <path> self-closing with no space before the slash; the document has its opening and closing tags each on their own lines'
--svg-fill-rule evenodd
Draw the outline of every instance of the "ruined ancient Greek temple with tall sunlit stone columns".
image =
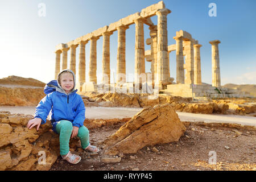
<svg viewBox="0 0 256 182">
<path fill-rule="evenodd" d="M 142 9 L 139 13 L 131 14 L 108 26 L 98 28 L 89 34 L 80 36 L 68 43 L 56 46 L 55 78 L 60 69 L 68 68 L 67 53 L 71 54 L 69 69 L 77 74 L 79 82 L 77 89 L 82 92 L 97 91 L 97 40 L 103 37 L 102 49 L 102 84 L 108 85 L 107 91 L 112 88 L 126 88 L 132 93 L 143 93 L 141 88 L 144 82 L 154 90 L 154 93 L 165 93 L 183 97 L 220 95 L 220 60 L 218 44 L 220 40 L 213 40 L 212 44 L 212 86 L 202 85 L 201 59 L 198 40 L 191 34 L 180 30 L 173 38 L 176 44 L 168 46 L 167 15 L 171 10 L 167 9 L 160 1 Z M 152 23 L 151 17 L 157 16 L 158 22 Z M 134 82 L 127 85 L 126 82 L 126 30 L 131 24 L 135 24 L 135 71 Z M 144 40 L 144 24 L 150 30 L 150 38 Z M 117 72 L 115 82 L 110 84 L 110 36 L 114 31 L 118 32 L 117 46 Z M 85 81 L 85 46 L 90 41 L 89 81 Z M 151 46 L 145 50 L 144 42 Z M 79 70 L 76 71 L 76 48 L 79 47 Z M 169 54 L 176 51 L 176 83 L 170 77 Z M 62 54 L 62 55 L 61 55 Z M 185 56 L 185 59 L 184 59 Z M 60 61 L 60 58 L 62 60 Z M 145 73 L 145 60 L 151 62 L 151 73 Z M 185 63 L 185 64 L 184 64 Z M 60 67 L 61 65 L 61 67 Z M 101 85 L 102 85 L 101 84 Z M 193 90 L 194 87 L 194 90 Z M 136 89 L 138 88 L 138 89 Z M 216 90 L 218 88 L 218 92 Z M 114 89 L 115 90 L 115 89 Z M 225 90 L 224 88 L 222 90 Z M 194 92 L 193 92 L 194 91 Z M 130 93 L 130 92 L 129 92 Z M 196 94 L 198 93 L 198 94 Z M 223 95 L 223 94 L 222 94 Z"/>
</svg>

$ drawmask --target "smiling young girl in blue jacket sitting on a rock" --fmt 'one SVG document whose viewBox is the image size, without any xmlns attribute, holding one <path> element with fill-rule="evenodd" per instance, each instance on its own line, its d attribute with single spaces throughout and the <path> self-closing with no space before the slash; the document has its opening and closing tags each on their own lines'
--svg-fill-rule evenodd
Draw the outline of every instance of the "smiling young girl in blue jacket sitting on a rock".
<svg viewBox="0 0 256 182">
<path fill-rule="evenodd" d="M 34 126 L 36 130 L 41 124 L 46 123 L 46 118 L 51 110 L 52 130 L 60 135 L 60 155 L 69 163 L 80 162 L 79 155 L 69 151 L 69 139 L 78 136 L 81 146 L 90 152 L 98 152 L 96 146 L 89 143 L 89 130 L 84 126 L 85 106 L 81 96 L 75 90 L 75 74 L 70 69 L 64 69 L 44 87 L 47 94 L 36 106 L 34 119 L 27 123 L 28 129 Z"/>
</svg>

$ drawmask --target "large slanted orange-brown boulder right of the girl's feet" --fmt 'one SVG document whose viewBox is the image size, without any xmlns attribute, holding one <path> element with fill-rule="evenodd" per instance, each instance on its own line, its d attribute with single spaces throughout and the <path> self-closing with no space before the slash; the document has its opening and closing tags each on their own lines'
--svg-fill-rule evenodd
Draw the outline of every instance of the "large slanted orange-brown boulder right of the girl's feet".
<svg viewBox="0 0 256 182">
<path fill-rule="evenodd" d="M 144 146 L 179 140 L 185 126 L 170 104 L 146 107 L 101 142 L 105 154 L 136 153 Z"/>
</svg>

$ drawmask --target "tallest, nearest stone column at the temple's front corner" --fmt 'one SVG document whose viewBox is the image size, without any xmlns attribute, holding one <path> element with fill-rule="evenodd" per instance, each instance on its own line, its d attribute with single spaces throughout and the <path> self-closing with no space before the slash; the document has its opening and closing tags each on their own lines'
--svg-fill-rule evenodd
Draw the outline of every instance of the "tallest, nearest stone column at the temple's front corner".
<svg viewBox="0 0 256 182">
<path fill-rule="evenodd" d="M 163 89 L 163 85 L 168 84 L 170 78 L 170 68 L 168 67 L 168 38 L 167 38 L 167 15 L 171 10 L 160 9 L 156 12 L 158 16 L 158 88 Z"/>
</svg>

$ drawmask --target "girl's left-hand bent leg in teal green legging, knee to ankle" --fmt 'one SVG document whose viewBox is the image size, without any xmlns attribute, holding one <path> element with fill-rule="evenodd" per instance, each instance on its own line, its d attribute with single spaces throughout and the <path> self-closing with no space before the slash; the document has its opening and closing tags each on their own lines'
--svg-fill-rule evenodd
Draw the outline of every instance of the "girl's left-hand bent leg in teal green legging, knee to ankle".
<svg viewBox="0 0 256 182">
<path fill-rule="evenodd" d="M 69 152 L 69 139 L 72 130 L 72 122 L 67 120 L 61 120 L 56 125 L 56 131 L 60 134 L 60 155 L 66 155 Z"/>
</svg>

